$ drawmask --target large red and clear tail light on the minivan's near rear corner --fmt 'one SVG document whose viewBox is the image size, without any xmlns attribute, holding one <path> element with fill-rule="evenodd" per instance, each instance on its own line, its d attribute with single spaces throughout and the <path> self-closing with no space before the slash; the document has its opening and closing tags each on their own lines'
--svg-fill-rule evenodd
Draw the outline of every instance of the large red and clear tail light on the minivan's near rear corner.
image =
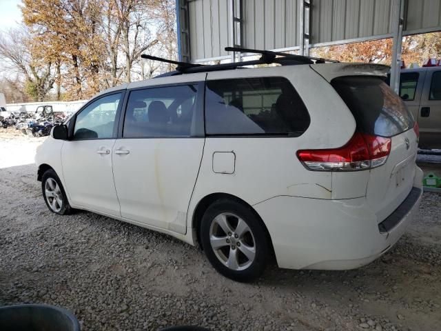
<svg viewBox="0 0 441 331">
<path fill-rule="evenodd" d="M 299 150 L 298 159 L 309 170 L 356 171 L 379 167 L 391 152 L 391 139 L 356 132 L 340 148 Z"/>
</svg>

